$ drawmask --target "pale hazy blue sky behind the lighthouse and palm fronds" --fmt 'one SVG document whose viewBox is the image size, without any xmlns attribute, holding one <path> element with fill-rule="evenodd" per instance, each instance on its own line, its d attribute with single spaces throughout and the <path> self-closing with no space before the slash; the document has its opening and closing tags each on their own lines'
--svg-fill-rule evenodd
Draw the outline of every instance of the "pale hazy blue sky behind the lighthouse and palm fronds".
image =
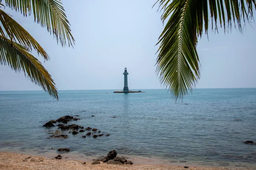
<svg viewBox="0 0 256 170">
<path fill-rule="evenodd" d="M 33 51 L 55 81 L 58 90 L 123 88 L 127 68 L 128 87 L 165 88 L 156 74 L 155 46 L 163 30 L 156 0 L 76 0 L 62 1 L 76 42 L 74 48 L 61 47 L 47 28 L 33 17 L 5 10 L 47 51 L 50 60 Z M 255 11 L 256 12 L 256 11 Z M 243 35 L 233 28 L 229 34 L 209 30 L 198 40 L 201 78 L 196 88 L 256 87 L 256 24 L 247 25 Z M 0 65 L 0 91 L 41 90 L 23 73 Z"/>
</svg>

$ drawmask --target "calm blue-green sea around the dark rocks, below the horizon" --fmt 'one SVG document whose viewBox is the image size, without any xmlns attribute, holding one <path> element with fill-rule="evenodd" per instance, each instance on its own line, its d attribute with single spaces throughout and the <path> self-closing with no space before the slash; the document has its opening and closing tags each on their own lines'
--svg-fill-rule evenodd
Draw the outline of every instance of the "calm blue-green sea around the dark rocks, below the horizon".
<svg viewBox="0 0 256 170">
<path fill-rule="evenodd" d="M 256 88 L 196 89 L 183 103 L 166 90 L 143 91 L 58 91 L 59 101 L 44 91 L 0 91 L 0 151 L 47 156 L 70 147 L 69 154 L 97 157 L 115 149 L 173 164 L 256 168 L 256 145 L 242 143 L 256 142 Z M 65 115 L 110 136 L 64 131 L 68 139 L 47 139 L 56 127 L 43 125 Z"/>
</svg>

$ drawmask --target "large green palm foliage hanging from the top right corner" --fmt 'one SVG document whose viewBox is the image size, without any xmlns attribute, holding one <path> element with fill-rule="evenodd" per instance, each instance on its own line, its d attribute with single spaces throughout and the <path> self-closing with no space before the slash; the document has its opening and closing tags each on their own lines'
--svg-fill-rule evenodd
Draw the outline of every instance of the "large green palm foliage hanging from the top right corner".
<svg viewBox="0 0 256 170">
<path fill-rule="evenodd" d="M 160 82 L 169 88 L 175 101 L 182 100 L 200 79 L 196 45 L 203 29 L 208 36 L 208 8 L 212 29 L 218 31 L 219 21 L 224 32 L 231 30 L 232 23 L 242 32 L 241 20 L 249 23 L 253 20 L 253 5 L 256 9 L 256 1 L 157 0 L 157 3 L 163 11 L 161 20 L 163 23 L 167 20 L 157 43 L 160 44 L 157 51 L 157 75 Z"/>
</svg>

